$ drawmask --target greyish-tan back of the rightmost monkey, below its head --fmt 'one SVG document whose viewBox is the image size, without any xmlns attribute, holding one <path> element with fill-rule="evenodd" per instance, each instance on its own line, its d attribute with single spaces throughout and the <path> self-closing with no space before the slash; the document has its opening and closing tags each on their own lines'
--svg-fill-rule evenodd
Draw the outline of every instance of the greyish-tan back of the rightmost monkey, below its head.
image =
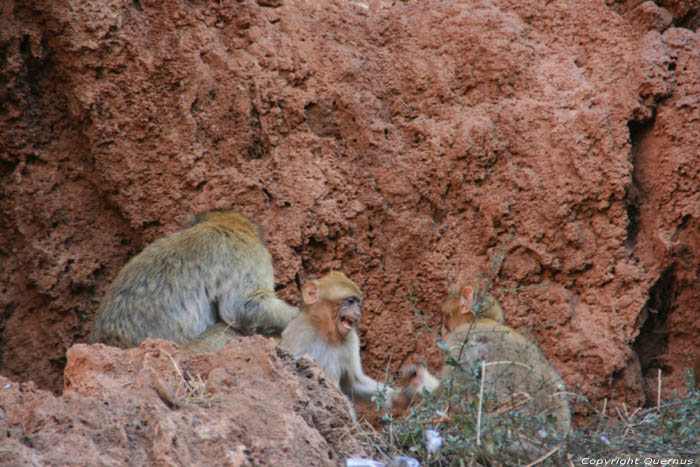
<svg viewBox="0 0 700 467">
<path fill-rule="evenodd" d="M 465 342 L 464 348 L 462 344 Z M 559 373 L 541 350 L 523 335 L 490 319 L 464 324 L 446 338 L 450 354 L 457 359 L 462 349 L 461 378 L 474 378 L 486 363 L 485 391 L 497 400 L 525 392 L 535 414 L 551 414 L 557 430 L 571 428 L 566 387 Z"/>
</svg>

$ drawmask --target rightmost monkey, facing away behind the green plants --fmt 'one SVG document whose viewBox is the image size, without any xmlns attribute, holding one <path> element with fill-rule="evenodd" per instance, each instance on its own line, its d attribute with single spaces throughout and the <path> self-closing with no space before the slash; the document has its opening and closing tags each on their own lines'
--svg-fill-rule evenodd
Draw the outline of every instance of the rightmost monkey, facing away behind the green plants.
<svg viewBox="0 0 700 467">
<path fill-rule="evenodd" d="M 483 378 L 484 392 L 491 401 L 505 404 L 513 396 L 523 399 L 518 405 L 531 416 L 550 421 L 559 435 L 571 430 L 571 413 L 561 377 L 540 349 L 515 330 L 504 326 L 498 301 L 487 292 L 463 287 L 442 305 L 443 323 L 448 332 L 447 349 L 459 366 L 445 365 L 441 379 L 453 377 L 469 387 L 478 387 Z M 485 363 L 481 374 L 480 362 Z M 440 382 L 421 367 L 408 366 L 402 378 L 407 386 L 404 398 L 417 395 L 425 388 L 439 394 Z M 479 380 L 479 381 L 477 381 Z M 467 386 L 467 384 L 464 384 Z M 524 405 L 523 405 L 524 404 Z"/>
</svg>

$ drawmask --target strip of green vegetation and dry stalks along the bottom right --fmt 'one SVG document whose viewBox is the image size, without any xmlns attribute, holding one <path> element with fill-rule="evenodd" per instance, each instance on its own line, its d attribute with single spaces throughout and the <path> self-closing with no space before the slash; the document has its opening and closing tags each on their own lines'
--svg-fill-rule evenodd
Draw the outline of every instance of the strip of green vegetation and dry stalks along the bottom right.
<svg viewBox="0 0 700 467">
<path fill-rule="evenodd" d="M 467 465 L 697 465 L 700 462 L 700 391 L 674 396 L 658 407 L 602 413 L 565 439 L 547 432 L 548 422 L 512 406 L 479 410 L 479 388 L 455 386 L 425 399 L 403 418 L 385 418 L 383 434 L 403 455 L 423 466 Z M 450 407 L 450 412 L 447 408 Z M 442 444 L 430 450 L 430 433 Z M 534 436 L 532 435 L 534 434 Z M 432 435 L 434 436 L 434 435 Z M 539 454 L 539 455 L 538 455 Z M 535 457 L 536 456 L 536 457 Z M 612 463 L 618 459 L 616 463 Z M 631 460 L 630 460 L 631 459 Z M 602 465 L 602 464 L 601 464 Z"/>
</svg>

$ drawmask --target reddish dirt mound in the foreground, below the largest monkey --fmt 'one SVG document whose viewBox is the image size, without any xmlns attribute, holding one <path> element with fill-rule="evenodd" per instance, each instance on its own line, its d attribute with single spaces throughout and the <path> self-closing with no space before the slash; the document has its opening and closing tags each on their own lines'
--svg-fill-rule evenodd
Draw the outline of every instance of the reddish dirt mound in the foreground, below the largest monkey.
<svg viewBox="0 0 700 467">
<path fill-rule="evenodd" d="M 0 464 L 344 465 L 348 403 L 308 360 L 242 338 L 188 358 L 147 340 L 68 351 L 61 397 L 0 378 Z"/>
</svg>

